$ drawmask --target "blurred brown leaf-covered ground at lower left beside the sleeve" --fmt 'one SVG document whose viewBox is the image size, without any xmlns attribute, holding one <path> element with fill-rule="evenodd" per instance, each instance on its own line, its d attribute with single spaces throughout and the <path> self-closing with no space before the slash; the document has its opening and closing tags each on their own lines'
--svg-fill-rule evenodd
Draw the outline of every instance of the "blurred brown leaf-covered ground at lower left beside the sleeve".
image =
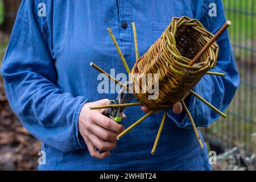
<svg viewBox="0 0 256 182">
<path fill-rule="evenodd" d="M 11 110 L 0 77 L 0 170 L 35 170 L 41 143 Z"/>
</svg>

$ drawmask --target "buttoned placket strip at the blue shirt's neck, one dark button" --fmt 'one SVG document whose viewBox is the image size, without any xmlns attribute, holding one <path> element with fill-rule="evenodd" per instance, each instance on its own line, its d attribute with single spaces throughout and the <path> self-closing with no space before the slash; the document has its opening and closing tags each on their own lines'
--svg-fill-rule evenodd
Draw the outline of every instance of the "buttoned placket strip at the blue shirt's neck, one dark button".
<svg viewBox="0 0 256 182">
<path fill-rule="evenodd" d="M 118 0 L 119 8 L 119 47 L 124 56 L 131 52 L 131 0 Z"/>
</svg>

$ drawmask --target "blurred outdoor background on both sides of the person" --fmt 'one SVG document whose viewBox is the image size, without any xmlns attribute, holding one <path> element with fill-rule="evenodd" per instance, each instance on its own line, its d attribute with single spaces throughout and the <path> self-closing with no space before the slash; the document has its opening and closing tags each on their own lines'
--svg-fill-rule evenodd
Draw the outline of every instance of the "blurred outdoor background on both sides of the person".
<svg viewBox="0 0 256 182">
<path fill-rule="evenodd" d="M 21 0 L 0 0 L 0 63 Z M 232 21 L 230 40 L 241 85 L 227 118 L 201 128 L 208 150 L 217 152 L 214 170 L 256 170 L 256 0 L 223 0 Z M 0 170 L 36 170 L 40 142 L 22 127 L 8 104 L 0 75 Z"/>
</svg>

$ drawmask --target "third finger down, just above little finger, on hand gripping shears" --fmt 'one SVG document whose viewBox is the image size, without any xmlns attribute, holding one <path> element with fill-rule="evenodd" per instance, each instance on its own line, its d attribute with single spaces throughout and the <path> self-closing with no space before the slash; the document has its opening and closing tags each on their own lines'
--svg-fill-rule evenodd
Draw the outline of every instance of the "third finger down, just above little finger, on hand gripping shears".
<svg viewBox="0 0 256 182">
<path fill-rule="evenodd" d="M 92 142 L 92 144 L 101 151 L 113 150 L 117 146 L 117 142 L 104 141 L 101 138 L 98 138 L 96 135 L 87 131 L 87 137 Z"/>
</svg>

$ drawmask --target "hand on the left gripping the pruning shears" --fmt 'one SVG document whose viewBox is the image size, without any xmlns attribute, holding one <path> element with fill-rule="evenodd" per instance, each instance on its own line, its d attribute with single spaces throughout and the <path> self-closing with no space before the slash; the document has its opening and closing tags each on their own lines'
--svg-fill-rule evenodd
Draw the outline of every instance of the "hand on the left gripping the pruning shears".
<svg viewBox="0 0 256 182">
<path fill-rule="evenodd" d="M 89 109 L 91 106 L 108 104 L 108 99 L 88 102 L 82 107 L 79 115 L 80 134 L 84 138 L 90 155 L 97 159 L 104 159 L 110 155 L 110 150 L 117 145 L 117 135 L 125 129 L 122 125 L 103 115 L 105 109 Z M 100 153 L 96 148 L 104 152 Z"/>
</svg>

